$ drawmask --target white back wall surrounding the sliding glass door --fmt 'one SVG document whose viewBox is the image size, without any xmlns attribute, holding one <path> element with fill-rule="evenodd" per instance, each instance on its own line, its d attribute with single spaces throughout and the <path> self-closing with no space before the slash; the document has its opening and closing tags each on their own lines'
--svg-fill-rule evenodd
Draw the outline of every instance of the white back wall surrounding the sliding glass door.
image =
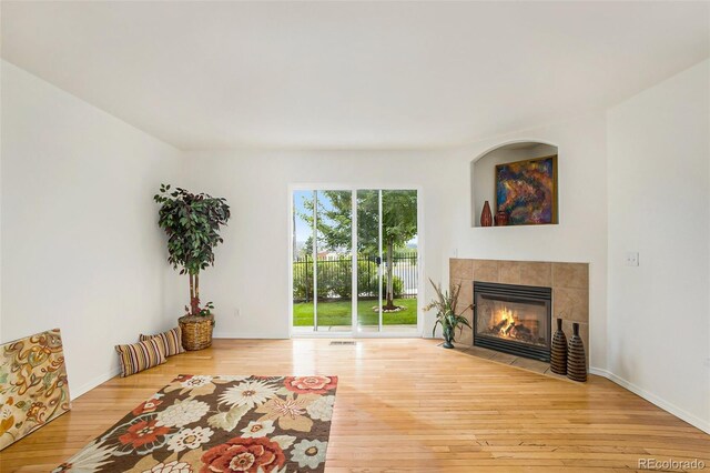
<svg viewBox="0 0 710 473">
<path fill-rule="evenodd" d="M 216 306 L 217 336 L 288 336 L 290 184 L 420 188 L 424 270 L 435 280 L 448 272 L 439 253 L 452 174 L 445 153 L 234 151 L 194 152 L 189 158 L 190 189 L 225 197 L 232 207 L 215 266 L 200 279 L 203 299 Z M 427 288 L 425 298 L 430 296 Z M 186 290 L 180 288 L 176 306 L 185 299 Z"/>
</svg>

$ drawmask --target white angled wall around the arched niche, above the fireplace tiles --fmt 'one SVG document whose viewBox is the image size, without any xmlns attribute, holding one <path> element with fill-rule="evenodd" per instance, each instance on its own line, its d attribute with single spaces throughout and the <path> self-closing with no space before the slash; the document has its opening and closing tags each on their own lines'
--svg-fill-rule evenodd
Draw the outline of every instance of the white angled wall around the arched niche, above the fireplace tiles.
<svg viewBox="0 0 710 473">
<path fill-rule="evenodd" d="M 471 161 L 510 142 L 558 147 L 559 224 L 471 228 Z M 607 152 L 604 112 L 480 141 L 453 151 L 448 242 L 443 258 L 589 263 L 591 368 L 606 366 L 607 335 Z M 479 212 L 479 211 L 478 211 Z M 478 217 L 476 217 L 477 219 Z"/>
</svg>

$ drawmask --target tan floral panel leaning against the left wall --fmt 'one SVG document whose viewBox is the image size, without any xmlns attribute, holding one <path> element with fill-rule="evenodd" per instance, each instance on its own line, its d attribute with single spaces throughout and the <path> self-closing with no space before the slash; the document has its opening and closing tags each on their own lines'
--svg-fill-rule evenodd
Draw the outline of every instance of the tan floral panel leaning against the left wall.
<svg viewBox="0 0 710 473">
<path fill-rule="evenodd" d="M 59 329 L 0 345 L 0 450 L 69 409 Z"/>
</svg>

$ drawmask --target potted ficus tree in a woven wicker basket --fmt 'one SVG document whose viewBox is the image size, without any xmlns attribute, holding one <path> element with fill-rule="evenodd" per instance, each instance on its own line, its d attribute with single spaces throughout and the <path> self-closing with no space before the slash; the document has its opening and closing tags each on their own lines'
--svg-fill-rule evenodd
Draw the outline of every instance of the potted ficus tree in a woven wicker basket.
<svg viewBox="0 0 710 473">
<path fill-rule="evenodd" d="M 214 248 L 224 240 L 220 228 L 230 220 L 224 198 L 193 194 L 184 189 L 171 191 L 161 184 L 153 198 L 160 203 L 158 224 L 168 234 L 168 262 L 190 280 L 190 305 L 179 319 L 185 350 L 202 350 L 212 344 L 214 314 L 212 302 L 201 306 L 200 272 L 214 265 Z"/>
</svg>

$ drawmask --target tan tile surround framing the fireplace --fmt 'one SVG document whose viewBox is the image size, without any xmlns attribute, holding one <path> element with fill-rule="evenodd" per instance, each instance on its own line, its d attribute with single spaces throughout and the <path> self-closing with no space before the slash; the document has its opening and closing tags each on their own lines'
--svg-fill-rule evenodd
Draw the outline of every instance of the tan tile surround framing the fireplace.
<svg viewBox="0 0 710 473">
<path fill-rule="evenodd" d="M 569 340 L 572 335 L 572 322 L 579 322 L 579 334 L 585 342 L 589 368 L 588 263 L 450 259 L 449 281 L 462 285 L 458 311 L 473 304 L 474 281 L 551 288 L 551 332 L 557 330 L 557 319 L 562 319 L 562 330 Z M 473 325 L 474 311 L 468 309 L 464 315 Z M 473 331 L 465 326 L 464 332 L 457 334 L 456 341 L 473 345 Z"/>
</svg>

